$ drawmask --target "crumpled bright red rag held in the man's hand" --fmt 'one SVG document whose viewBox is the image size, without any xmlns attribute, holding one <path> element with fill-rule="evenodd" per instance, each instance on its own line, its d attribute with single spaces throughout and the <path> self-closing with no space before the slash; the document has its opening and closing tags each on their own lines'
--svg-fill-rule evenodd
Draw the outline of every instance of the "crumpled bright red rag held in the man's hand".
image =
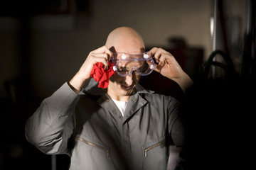
<svg viewBox="0 0 256 170">
<path fill-rule="evenodd" d="M 115 74 L 114 70 L 113 70 L 113 66 L 114 64 L 112 62 L 108 62 L 108 69 L 105 70 L 104 64 L 102 64 L 102 62 L 97 62 L 96 64 L 93 65 L 92 67 L 92 72 L 91 72 L 91 77 L 93 79 L 95 79 L 95 81 L 99 82 L 100 84 L 98 85 L 98 87 L 102 88 L 102 89 L 106 89 L 109 81 L 110 81 L 110 77 L 112 77 L 112 75 Z"/>
</svg>

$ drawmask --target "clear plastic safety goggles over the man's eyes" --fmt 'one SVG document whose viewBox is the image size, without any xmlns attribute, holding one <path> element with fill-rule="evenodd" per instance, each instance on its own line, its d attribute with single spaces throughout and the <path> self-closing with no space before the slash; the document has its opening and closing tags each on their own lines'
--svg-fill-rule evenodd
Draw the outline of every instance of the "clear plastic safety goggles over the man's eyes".
<svg viewBox="0 0 256 170">
<path fill-rule="evenodd" d="M 149 52 L 140 54 L 113 52 L 111 60 L 114 64 L 114 71 L 122 77 L 129 76 L 132 72 L 146 76 L 154 70 L 154 60 Z"/>
</svg>

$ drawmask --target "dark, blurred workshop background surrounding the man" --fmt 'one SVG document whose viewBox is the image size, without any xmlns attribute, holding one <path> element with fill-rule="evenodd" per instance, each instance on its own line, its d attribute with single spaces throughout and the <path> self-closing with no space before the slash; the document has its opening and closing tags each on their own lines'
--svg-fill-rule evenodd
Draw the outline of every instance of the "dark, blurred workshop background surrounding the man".
<svg viewBox="0 0 256 170">
<path fill-rule="evenodd" d="M 73 77 L 87 54 L 104 45 L 108 33 L 118 26 L 138 30 L 147 50 L 162 47 L 171 52 L 195 82 L 184 95 L 174 81 L 156 72 L 140 81 L 147 89 L 183 102 L 188 128 L 187 166 L 249 166 L 255 134 L 255 17 L 247 33 L 247 3 L 251 1 L 218 1 L 218 30 L 226 31 L 218 34 L 214 48 L 210 18 L 215 2 L 2 2 L 0 169 L 51 169 L 52 157 L 26 141 L 26 120 L 43 98 Z M 227 56 L 216 55 L 215 62 L 228 69 L 208 61 L 213 48 L 225 52 Z M 57 155 L 56 159 L 57 169 L 68 169 L 67 155 Z"/>
</svg>

